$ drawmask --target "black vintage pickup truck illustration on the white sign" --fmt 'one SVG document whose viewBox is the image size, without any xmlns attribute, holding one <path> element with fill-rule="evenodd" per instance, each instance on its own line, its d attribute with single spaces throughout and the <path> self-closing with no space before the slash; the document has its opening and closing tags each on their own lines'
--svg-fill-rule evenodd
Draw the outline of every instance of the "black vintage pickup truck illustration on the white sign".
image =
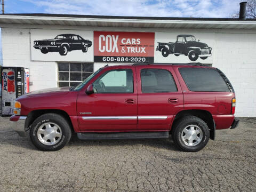
<svg viewBox="0 0 256 192">
<path fill-rule="evenodd" d="M 198 57 L 207 59 L 212 55 L 212 48 L 199 40 L 197 42 L 193 35 L 178 35 L 175 43 L 157 43 L 156 51 L 161 51 L 163 57 L 167 57 L 169 54 L 188 55 L 191 61 L 196 61 Z"/>
</svg>

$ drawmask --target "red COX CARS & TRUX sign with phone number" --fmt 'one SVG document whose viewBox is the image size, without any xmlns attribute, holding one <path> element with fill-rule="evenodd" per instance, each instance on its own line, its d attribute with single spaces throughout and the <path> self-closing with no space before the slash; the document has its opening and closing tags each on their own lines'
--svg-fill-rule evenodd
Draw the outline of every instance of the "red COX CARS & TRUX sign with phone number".
<svg viewBox="0 0 256 192">
<path fill-rule="evenodd" d="M 154 62 L 155 33 L 94 31 L 94 62 Z"/>
</svg>

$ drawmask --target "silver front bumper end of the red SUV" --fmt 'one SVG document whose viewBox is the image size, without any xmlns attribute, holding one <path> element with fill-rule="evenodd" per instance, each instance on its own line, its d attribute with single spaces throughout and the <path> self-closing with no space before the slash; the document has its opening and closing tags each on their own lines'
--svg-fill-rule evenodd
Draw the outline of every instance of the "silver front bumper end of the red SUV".
<svg viewBox="0 0 256 192">
<path fill-rule="evenodd" d="M 14 131 L 16 131 L 21 137 L 25 137 L 25 121 L 27 116 L 12 115 L 10 121 Z"/>
</svg>

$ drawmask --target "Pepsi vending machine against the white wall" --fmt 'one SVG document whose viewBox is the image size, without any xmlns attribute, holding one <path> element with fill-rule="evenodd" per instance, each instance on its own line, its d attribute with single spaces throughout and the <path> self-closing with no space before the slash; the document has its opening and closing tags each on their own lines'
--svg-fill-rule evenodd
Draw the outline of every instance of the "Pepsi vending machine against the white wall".
<svg viewBox="0 0 256 192">
<path fill-rule="evenodd" d="M 29 69 L 2 67 L 2 115 L 12 115 L 15 99 L 29 92 Z"/>
</svg>

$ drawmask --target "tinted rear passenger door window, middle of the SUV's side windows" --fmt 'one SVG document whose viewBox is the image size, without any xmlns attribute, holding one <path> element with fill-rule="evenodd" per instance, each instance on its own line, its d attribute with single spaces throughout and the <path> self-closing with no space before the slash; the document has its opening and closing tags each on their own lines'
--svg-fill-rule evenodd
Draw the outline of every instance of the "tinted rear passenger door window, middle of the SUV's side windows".
<svg viewBox="0 0 256 192">
<path fill-rule="evenodd" d="M 141 69 L 142 93 L 177 91 L 172 74 L 165 69 Z"/>
</svg>

